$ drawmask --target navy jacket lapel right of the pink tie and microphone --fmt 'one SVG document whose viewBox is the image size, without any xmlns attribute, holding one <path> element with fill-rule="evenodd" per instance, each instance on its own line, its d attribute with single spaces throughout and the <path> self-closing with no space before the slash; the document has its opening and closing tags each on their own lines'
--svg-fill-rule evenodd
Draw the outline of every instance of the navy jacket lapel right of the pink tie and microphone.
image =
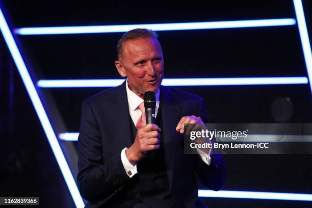
<svg viewBox="0 0 312 208">
<path fill-rule="evenodd" d="M 180 119 L 180 107 L 175 103 L 174 95 L 171 91 L 164 86 L 161 86 L 160 101 L 163 120 L 163 138 L 161 139 L 164 142 L 165 164 L 171 189 L 178 141 L 178 133 L 176 133 L 175 127 Z"/>
</svg>

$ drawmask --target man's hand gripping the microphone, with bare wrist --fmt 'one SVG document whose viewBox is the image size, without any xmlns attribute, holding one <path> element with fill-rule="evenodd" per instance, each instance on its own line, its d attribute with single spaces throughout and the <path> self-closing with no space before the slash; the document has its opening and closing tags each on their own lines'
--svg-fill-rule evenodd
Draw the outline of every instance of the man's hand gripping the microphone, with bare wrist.
<svg viewBox="0 0 312 208">
<path fill-rule="evenodd" d="M 154 123 L 146 124 L 138 130 L 134 143 L 125 151 L 126 157 L 132 165 L 136 165 L 147 151 L 159 149 L 160 131 L 161 128 Z"/>
</svg>

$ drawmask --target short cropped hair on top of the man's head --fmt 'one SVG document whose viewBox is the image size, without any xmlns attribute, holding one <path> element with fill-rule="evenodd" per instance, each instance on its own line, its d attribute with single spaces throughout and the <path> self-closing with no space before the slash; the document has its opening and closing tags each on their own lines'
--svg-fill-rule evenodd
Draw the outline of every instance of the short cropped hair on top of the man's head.
<svg viewBox="0 0 312 208">
<path fill-rule="evenodd" d="M 149 30 L 145 28 L 137 28 L 137 29 L 133 29 L 131 31 L 126 32 L 119 39 L 118 44 L 117 44 L 116 53 L 117 53 L 118 60 L 120 59 L 121 54 L 122 54 L 123 44 L 128 40 L 134 40 L 138 38 L 153 38 L 153 39 L 158 40 L 158 34 L 153 30 Z"/>
</svg>

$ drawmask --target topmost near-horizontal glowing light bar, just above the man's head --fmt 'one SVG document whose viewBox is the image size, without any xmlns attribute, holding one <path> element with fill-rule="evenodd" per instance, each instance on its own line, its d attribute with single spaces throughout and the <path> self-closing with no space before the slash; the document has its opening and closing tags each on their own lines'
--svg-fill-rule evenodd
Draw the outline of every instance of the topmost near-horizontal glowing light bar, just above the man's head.
<svg viewBox="0 0 312 208">
<path fill-rule="evenodd" d="M 119 33 L 135 28 L 147 28 L 155 31 L 176 30 L 203 30 L 227 28 L 273 27 L 296 24 L 293 18 L 284 19 L 256 19 L 238 21 L 212 21 L 212 22 L 185 22 L 185 23 L 160 23 L 160 24 L 124 24 L 76 27 L 38 27 L 18 28 L 14 32 L 18 35 L 59 35 L 59 34 L 87 34 L 87 33 Z"/>
</svg>

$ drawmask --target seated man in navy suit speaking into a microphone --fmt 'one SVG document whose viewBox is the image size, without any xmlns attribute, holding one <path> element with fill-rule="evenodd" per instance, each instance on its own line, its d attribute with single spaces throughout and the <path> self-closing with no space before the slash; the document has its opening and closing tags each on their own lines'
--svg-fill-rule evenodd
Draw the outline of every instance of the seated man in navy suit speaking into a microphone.
<svg viewBox="0 0 312 208">
<path fill-rule="evenodd" d="M 77 182 L 87 207 L 206 207 L 197 178 L 220 190 L 222 155 L 184 154 L 185 123 L 207 122 L 203 99 L 161 86 L 157 35 L 135 29 L 117 45 L 116 68 L 126 81 L 83 102 Z M 143 95 L 155 93 L 155 124 L 146 124 Z"/>
</svg>

